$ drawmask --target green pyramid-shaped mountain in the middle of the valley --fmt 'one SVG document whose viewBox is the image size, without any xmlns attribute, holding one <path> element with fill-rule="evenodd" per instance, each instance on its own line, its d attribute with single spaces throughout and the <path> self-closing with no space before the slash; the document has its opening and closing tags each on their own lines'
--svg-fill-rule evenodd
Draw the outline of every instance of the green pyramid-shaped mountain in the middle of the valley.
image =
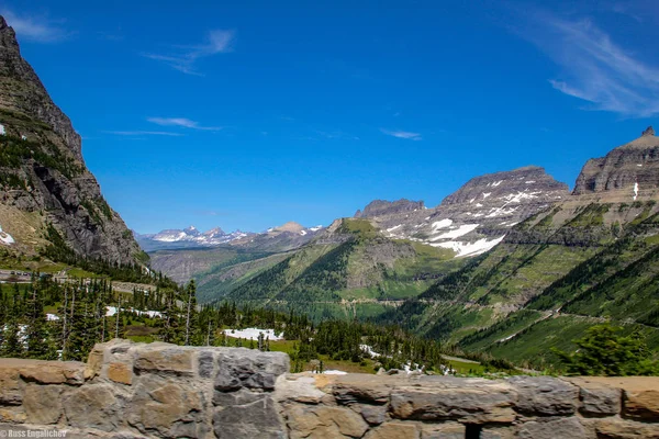
<svg viewBox="0 0 659 439">
<path fill-rule="evenodd" d="M 294 306 L 321 317 L 376 316 L 386 301 L 416 296 L 462 263 L 453 251 L 382 237 L 366 219 L 344 219 L 343 244 L 311 244 L 237 285 L 228 300 Z M 348 303 L 346 303 L 348 301 Z"/>
</svg>

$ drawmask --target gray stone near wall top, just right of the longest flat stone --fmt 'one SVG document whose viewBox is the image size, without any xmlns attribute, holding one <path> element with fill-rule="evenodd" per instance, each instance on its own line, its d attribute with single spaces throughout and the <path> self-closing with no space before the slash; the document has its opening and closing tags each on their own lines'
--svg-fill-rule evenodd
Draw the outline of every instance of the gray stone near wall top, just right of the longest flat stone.
<svg viewBox="0 0 659 439">
<path fill-rule="evenodd" d="M 507 380 L 517 391 L 517 409 L 540 416 L 572 415 L 577 412 L 579 389 L 549 376 L 513 376 Z"/>
</svg>

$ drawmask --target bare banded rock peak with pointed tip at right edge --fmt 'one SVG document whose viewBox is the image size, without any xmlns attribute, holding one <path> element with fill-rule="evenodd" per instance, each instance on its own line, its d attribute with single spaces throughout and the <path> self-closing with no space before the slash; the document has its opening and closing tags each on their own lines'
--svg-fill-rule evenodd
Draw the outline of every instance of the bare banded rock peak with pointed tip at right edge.
<svg viewBox="0 0 659 439">
<path fill-rule="evenodd" d="M 637 139 L 605 157 L 588 160 L 574 185 L 576 195 L 610 192 L 630 201 L 659 189 L 659 137 L 648 127 Z M 605 194 L 607 195 L 607 194 Z"/>
</svg>

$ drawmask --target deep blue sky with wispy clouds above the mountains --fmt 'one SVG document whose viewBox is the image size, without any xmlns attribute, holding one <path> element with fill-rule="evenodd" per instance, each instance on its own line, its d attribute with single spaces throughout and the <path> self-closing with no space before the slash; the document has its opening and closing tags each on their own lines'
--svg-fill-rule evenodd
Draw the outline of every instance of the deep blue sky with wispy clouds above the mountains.
<svg viewBox="0 0 659 439">
<path fill-rule="evenodd" d="M 572 185 L 659 114 L 654 0 L 97 3 L 0 13 L 141 233 L 434 206 L 526 165 Z"/>
</svg>

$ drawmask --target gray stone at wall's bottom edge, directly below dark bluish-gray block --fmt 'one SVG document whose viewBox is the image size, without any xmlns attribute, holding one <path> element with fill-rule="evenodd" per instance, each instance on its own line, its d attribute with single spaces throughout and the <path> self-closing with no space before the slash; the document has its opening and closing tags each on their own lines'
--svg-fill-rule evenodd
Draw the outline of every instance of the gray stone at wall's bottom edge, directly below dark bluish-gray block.
<svg viewBox="0 0 659 439">
<path fill-rule="evenodd" d="M 286 438 L 286 427 L 271 397 L 253 403 L 219 408 L 213 429 L 220 439 Z"/>
</svg>

